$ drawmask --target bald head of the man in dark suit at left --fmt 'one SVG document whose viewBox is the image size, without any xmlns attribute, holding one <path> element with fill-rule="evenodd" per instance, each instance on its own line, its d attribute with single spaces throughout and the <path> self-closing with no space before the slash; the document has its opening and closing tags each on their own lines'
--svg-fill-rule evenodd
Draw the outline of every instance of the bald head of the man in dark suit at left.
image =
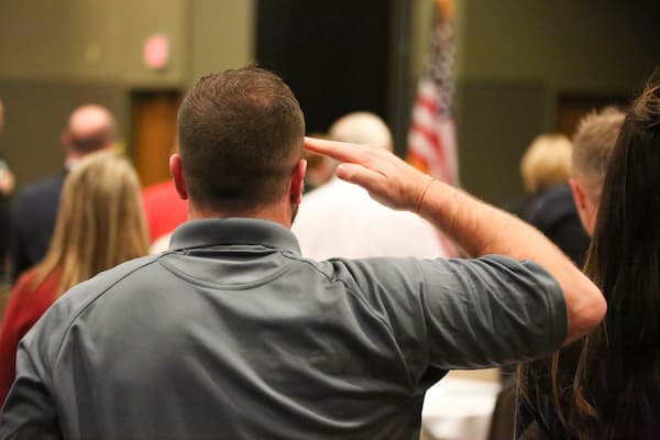
<svg viewBox="0 0 660 440">
<path fill-rule="evenodd" d="M 111 146 L 116 140 L 114 117 L 110 110 L 98 105 L 86 105 L 74 110 L 63 134 L 65 146 L 77 156 Z"/>
</svg>

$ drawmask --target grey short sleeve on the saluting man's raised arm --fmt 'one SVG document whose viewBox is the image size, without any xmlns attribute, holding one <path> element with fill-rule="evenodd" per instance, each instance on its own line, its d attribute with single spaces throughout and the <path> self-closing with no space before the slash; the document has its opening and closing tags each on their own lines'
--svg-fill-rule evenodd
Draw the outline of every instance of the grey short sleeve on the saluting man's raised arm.
<svg viewBox="0 0 660 440">
<path fill-rule="evenodd" d="M 544 356 L 566 337 L 563 292 L 529 261 L 376 258 L 350 267 L 418 383 L 429 369 L 484 369 Z"/>
</svg>

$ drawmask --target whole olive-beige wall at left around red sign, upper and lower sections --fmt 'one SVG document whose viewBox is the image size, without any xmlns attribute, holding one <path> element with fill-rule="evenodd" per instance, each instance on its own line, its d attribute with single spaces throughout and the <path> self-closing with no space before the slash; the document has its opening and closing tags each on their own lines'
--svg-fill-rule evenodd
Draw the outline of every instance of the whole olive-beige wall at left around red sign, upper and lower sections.
<svg viewBox="0 0 660 440">
<path fill-rule="evenodd" d="M 76 106 L 110 107 L 130 140 L 133 90 L 185 90 L 202 74 L 252 62 L 253 9 L 254 0 L 0 1 L 0 148 L 19 185 L 62 167 L 59 133 Z M 154 33 L 170 44 L 161 70 L 142 61 Z"/>
</svg>

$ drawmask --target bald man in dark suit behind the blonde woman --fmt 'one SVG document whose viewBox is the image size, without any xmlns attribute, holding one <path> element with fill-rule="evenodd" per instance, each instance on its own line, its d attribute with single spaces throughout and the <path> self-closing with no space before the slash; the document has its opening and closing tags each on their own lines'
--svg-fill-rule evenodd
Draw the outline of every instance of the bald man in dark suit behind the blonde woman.
<svg viewBox="0 0 660 440">
<path fill-rule="evenodd" d="M 10 260 L 12 280 L 45 255 L 59 207 L 67 173 L 85 155 L 112 146 L 117 139 L 114 117 L 105 107 L 87 105 L 70 114 L 62 134 L 65 167 L 44 180 L 28 185 L 19 195 L 13 213 Z"/>
</svg>

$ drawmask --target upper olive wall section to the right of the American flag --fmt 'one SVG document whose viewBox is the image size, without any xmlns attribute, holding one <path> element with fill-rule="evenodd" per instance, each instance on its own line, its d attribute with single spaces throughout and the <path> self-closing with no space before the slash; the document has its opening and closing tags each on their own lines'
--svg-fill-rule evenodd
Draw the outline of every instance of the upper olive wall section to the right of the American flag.
<svg viewBox="0 0 660 440">
<path fill-rule="evenodd" d="M 464 79 L 629 89 L 660 55 L 657 1 L 463 1 Z"/>
</svg>

